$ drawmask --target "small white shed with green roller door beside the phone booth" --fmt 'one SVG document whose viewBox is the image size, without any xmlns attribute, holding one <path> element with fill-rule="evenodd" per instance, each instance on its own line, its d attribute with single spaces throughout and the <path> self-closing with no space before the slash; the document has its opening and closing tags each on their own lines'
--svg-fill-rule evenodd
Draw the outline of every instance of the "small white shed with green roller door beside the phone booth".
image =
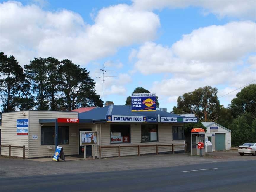
<svg viewBox="0 0 256 192">
<path fill-rule="evenodd" d="M 231 130 L 215 122 L 202 122 L 206 127 L 205 140 L 211 141 L 212 150 L 230 150 L 231 148 Z"/>
</svg>

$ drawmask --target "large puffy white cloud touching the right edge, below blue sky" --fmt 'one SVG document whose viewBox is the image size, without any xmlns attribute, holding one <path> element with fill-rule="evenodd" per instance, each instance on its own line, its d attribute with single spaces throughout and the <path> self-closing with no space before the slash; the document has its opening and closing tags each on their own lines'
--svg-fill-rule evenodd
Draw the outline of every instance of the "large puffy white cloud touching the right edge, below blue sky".
<svg viewBox="0 0 256 192">
<path fill-rule="evenodd" d="M 235 61 L 256 51 L 256 24 L 244 21 L 199 28 L 183 35 L 172 51 L 186 60 Z"/>
</svg>

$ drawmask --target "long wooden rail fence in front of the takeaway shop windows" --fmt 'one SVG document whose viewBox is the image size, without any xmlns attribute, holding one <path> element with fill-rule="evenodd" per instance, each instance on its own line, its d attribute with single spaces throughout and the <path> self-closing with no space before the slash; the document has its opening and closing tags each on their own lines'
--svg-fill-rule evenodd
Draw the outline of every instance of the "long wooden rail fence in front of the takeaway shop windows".
<svg viewBox="0 0 256 192">
<path fill-rule="evenodd" d="M 101 151 L 102 148 L 118 148 L 118 157 L 120 157 L 121 147 L 136 147 L 138 148 L 138 156 L 140 156 L 140 148 L 141 147 L 155 147 L 156 148 L 156 155 L 158 155 L 158 148 L 159 147 L 170 147 L 172 146 L 172 154 L 174 154 L 174 147 L 175 146 L 185 146 L 185 153 L 188 152 L 188 145 L 187 144 L 172 144 L 172 145 L 114 145 L 114 146 L 101 146 L 99 147 L 99 153 L 101 158 Z"/>
</svg>

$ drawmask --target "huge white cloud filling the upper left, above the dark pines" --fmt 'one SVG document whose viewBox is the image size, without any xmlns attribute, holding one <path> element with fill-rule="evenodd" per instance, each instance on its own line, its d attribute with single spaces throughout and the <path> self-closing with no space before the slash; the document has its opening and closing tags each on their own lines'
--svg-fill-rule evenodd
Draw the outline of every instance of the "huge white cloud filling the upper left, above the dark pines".
<svg viewBox="0 0 256 192">
<path fill-rule="evenodd" d="M 152 40 L 160 26 L 158 15 L 126 4 L 101 9 L 93 25 L 69 10 L 50 12 L 15 1 L 0 3 L 0 14 L 1 51 L 22 65 L 49 56 L 85 65 L 119 47 Z"/>
</svg>

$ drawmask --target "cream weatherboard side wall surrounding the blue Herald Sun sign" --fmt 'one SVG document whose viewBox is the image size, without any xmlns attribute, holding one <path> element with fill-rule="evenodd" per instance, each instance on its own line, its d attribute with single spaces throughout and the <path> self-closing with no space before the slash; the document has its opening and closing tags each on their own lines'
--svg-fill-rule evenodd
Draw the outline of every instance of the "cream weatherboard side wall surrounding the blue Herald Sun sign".
<svg viewBox="0 0 256 192">
<path fill-rule="evenodd" d="M 1 145 L 25 145 L 25 157 L 28 157 L 28 135 L 17 135 L 17 119 L 29 119 L 30 111 L 17 111 L 2 114 Z M 25 116 L 22 114 L 24 113 Z M 29 132 L 29 124 L 28 124 Z M 29 133 L 28 133 L 29 134 Z M 9 155 L 8 147 L 1 147 L 1 155 Z M 22 148 L 11 148 L 11 156 L 22 157 Z"/>
</svg>

